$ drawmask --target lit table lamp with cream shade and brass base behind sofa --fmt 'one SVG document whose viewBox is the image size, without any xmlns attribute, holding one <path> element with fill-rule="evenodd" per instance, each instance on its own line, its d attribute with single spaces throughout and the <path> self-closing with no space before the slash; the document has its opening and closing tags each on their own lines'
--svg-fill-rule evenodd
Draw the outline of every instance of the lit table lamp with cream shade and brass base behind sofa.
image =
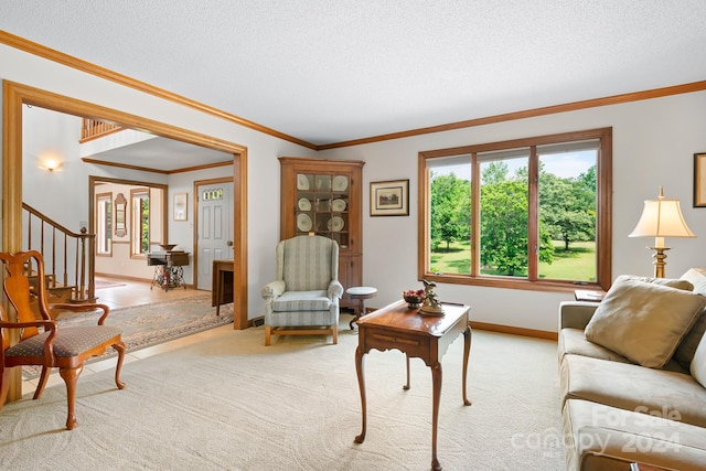
<svg viewBox="0 0 706 471">
<path fill-rule="evenodd" d="M 654 237 L 654 247 L 648 247 L 654 250 L 654 277 L 664 278 L 664 266 L 666 265 L 665 250 L 670 247 L 664 246 L 664 237 L 696 237 L 688 228 L 678 200 L 667 200 L 664 197 L 664 191 L 660 186 L 660 196 L 656 200 L 645 200 L 642 215 L 638 225 L 628 237 Z"/>
</svg>

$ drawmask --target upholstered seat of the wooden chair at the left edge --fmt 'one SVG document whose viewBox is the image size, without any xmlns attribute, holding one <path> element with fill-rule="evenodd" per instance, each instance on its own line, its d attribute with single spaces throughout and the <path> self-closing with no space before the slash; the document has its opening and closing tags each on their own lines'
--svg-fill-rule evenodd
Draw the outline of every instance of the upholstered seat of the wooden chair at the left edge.
<svg viewBox="0 0 706 471">
<path fill-rule="evenodd" d="M 121 333 L 120 329 L 113 325 L 61 328 L 54 338 L 54 355 L 57 357 L 76 356 Z M 7 357 L 42 356 L 44 354 L 44 341 L 46 341 L 47 336 L 49 332 L 43 332 L 23 340 L 6 350 L 4 355 Z"/>
</svg>

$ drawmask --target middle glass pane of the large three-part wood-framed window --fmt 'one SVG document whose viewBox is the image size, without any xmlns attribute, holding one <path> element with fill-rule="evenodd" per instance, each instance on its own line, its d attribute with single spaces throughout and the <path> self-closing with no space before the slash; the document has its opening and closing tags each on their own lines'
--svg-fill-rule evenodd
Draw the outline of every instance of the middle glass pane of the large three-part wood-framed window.
<svg viewBox="0 0 706 471">
<path fill-rule="evenodd" d="M 481 275 L 526 277 L 530 150 L 479 154 L 478 160 Z"/>
</svg>

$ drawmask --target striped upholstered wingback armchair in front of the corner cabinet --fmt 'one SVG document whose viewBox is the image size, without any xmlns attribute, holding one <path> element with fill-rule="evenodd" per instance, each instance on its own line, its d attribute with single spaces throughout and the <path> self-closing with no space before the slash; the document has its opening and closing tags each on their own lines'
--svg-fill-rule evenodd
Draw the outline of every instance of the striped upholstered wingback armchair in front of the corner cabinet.
<svg viewBox="0 0 706 471">
<path fill-rule="evenodd" d="M 263 288 L 265 345 L 270 335 L 331 334 L 338 343 L 339 245 L 321 236 L 277 244 L 277 280 Z"/>
</svg>

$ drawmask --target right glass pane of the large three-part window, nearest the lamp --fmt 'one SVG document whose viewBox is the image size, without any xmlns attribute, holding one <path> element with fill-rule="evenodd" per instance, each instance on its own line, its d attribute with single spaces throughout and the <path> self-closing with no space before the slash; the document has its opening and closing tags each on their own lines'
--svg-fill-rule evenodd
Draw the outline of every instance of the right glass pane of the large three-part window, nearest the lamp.
<svg viewBox="0 0 706 471">
<path fill-rule="evenodd" d="M 598 144 L 537 149 L 539 278 L 596 281 Z"/>
</svg>

